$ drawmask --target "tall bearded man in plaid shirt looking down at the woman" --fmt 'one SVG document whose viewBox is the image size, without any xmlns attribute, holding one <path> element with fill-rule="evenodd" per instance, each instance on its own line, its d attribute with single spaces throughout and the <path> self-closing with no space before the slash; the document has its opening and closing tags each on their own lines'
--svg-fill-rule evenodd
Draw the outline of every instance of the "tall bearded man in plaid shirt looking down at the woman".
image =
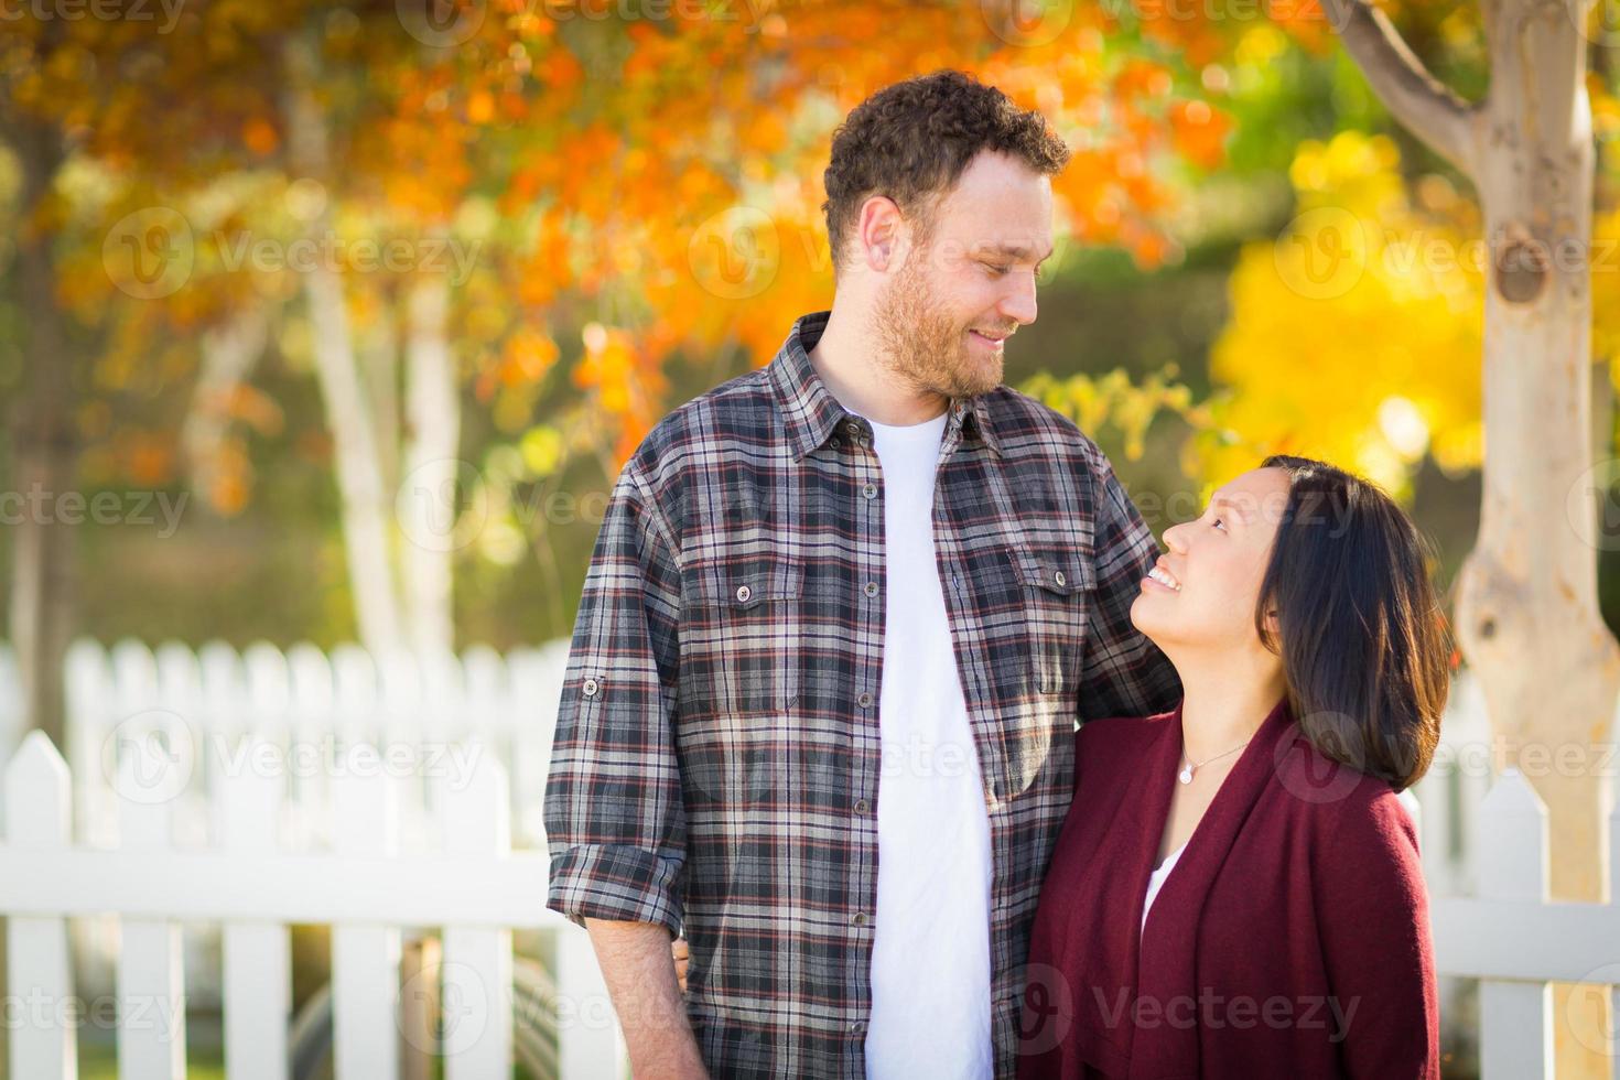
<svg viewBox="0 0 1620 1080">
<path fill-rule="evenodd" d="M 1013 1075 L 1074 724 L 1179 696 L 1129 622 L 1152 534 L 1000 385 L 1068 157 L 956 71 L 870 97 L 826 170 L 833 309 L 614 487 L 548 904 L 590 929 L 637 1077 Z"/>
</svg>

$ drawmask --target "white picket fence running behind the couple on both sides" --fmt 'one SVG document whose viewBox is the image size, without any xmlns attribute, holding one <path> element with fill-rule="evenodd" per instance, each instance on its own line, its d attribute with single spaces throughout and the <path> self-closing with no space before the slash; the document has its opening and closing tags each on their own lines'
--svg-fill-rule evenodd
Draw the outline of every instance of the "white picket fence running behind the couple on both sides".
<svg viewBox="0 0 1620 1080">
<path fill-rule="evenodd" d="M 353 648 L 76 643 L 68 759 L 34 735 L 0 774 L 8 1004 L 28 993 L 57 1015 L 109 996 L 134 1080 L 183 1075 L 181 1001 L 219 1006 L 228 1075 L 285 1077 L 287 926 L 330 925 L 339 1077 L 395 1075 L 402 1038 L 423 1049 L 400 1018 L 421 980 L 446 1002 L 433 1048 L 446 1075 L 504 1077 L 510 936 L 538 929 L 557 955 L 562 1075 L 622 1075 L 590 942 L 544 908 L 539 808 L 565 649 L 470 649 L 423 672 Z M 16 745 L 13 690 L 0 649 L 0 756 Z M 1414 789 L 1439 967 L 1484 980 L 1487 1080 L 1550 1077 L 1547 981 L 1614 1007 L 1620 915 L 1545 900 L 1545 811 L 1523 777 L 1490 774 L 1466 677 L 1442 732 Z M 402 988 L 402 933 L 441 928 L 442 962 Z M 13 1023 L 11 1075 L 73 1077 L 71 1031 Z M 1583 1040 L 1614 1054 L 1614 1014 Z"/>
</svg>

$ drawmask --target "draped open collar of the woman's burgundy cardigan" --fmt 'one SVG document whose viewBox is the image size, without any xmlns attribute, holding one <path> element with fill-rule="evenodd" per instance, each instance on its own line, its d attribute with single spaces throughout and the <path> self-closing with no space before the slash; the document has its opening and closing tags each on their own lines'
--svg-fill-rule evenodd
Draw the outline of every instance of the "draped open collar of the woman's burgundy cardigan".
<svg viewBox="0 0 1620 1080">
<path fill-rule="evenodd" d="M 1275 776 L 1278 743 L 1293 730 L 1293 714 L 1286 698 L 1260 722 L 1243 756 L 1221 782 L 1209 810 L 1199 821 L 1176 868 L 1165 878 L 1137 954 L 1137 999 L 1142 1030 L 1131 1025 L 1131 1077 L 1196 1077 L 1199 1074 L 1197 1040 L 1197 931 L 1204 897 L 1226 861 L 1243 823 Z M 1174 774 L 1181 764 L 1181 711 L 1170 738 L 1160 740 L 1149 755 L 1155 771 L 1142 823 L 1145 870 L 1134 891 L 1132 931 L 1142 918 L 1147 878 L 1158 853 L 1158 844 L 1170 818 Z"/>
</svg>

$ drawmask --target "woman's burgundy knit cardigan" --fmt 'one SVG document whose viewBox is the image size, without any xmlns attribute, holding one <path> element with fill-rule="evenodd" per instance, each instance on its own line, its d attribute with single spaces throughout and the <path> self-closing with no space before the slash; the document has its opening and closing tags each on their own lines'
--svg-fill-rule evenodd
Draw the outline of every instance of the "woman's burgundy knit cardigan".
<svg viewBox="0 0 1620 1080">
<path fill-rule="evenodd" d="M 1021 1080 L 1440 1075 L 1418 837 L 1388 784 L 1319 755 L 1280 704 L 1139 942 L 1181 709 L 1092 721 L 1077 740 L 1030 938 Z"/>
</svg>

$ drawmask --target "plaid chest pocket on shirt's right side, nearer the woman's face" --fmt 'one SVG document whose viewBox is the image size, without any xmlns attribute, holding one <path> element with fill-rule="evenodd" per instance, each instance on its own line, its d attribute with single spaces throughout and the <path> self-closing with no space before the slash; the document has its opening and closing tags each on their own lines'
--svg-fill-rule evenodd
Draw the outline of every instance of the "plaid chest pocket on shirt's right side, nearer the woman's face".
<svg viewBox="0 0 1620 1080">
<path fill-rule="evenodd" d="M 1097 568 L 1072 549 L 1017 544 L 1009 554 L 1024 591 L 1032 682 L 1040 693 L 1072 693 L 1081 683 Z"/>
</svg>

